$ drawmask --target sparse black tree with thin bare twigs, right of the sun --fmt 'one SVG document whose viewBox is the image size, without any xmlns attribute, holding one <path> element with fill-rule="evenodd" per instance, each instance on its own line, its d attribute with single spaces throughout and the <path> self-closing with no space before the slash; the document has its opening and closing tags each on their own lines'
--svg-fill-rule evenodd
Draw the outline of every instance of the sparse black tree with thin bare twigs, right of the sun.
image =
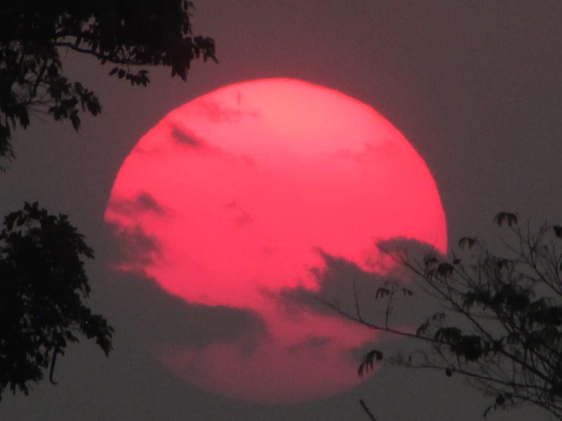
<svg viewBox="0 0 562 421">
<path fill-rule="evenodd" d="M 442 304 L 416 332 L 389 326 L 392 302 L 413 295 L 397 281 L 380 287 L 376 298 L 386 300 L 386 321 L 376 324 L 346 314 L 370 328 L 424 342 L 413 352 L 386 360 L 412 368 L 460 375 L 492 396 L 484 417 L 493 409 L 529 403 L 562 419 L 562 227 L 531 222 L 519 225 L 513 213 L 495 221 L 507 229 L 494 248 L 464 237 L 450 258 L 432 251 L 423 260 L 385 249 L 416 275 L 425 293 Z M 396 301 L 395 301 L 396 302 Z M 418 342 L 419 344 L 420 342 Z M 365 355 L 359 375 L 383 360 L 373 349 Z"/>
</svg>

